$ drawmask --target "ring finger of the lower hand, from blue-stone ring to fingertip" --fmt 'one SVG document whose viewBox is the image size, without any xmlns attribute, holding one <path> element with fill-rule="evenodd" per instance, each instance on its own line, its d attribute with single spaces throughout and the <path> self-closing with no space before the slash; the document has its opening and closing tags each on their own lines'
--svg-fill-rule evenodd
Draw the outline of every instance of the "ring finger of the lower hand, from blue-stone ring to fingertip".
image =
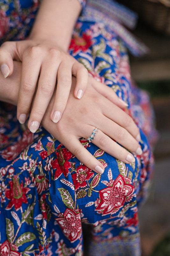
<svg viewBox="0 0 170 256">
<path fill-rule="evenodd" d="M 99 129 L 96 130 L 96 136 L 92 140 L 92 143 L 118 160 L 125 163 L 135 162 L 135 158 L 130 152 L 121 147 Z"/>
</svg>

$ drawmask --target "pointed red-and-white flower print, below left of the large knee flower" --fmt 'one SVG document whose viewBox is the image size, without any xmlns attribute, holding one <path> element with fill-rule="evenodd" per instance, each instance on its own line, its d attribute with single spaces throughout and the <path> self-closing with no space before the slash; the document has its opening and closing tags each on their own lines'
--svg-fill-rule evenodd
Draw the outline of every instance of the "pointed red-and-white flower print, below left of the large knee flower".
<svg viewBox="0 0 170 256">
<path fill-rule="evenodd" d="M 63 217 L 56 218 L 56 221 L 71 243 L 81 237 L 82 229 L 79 212 L 77 213 L 67 208 L 63 213 Z"/>
</svg>

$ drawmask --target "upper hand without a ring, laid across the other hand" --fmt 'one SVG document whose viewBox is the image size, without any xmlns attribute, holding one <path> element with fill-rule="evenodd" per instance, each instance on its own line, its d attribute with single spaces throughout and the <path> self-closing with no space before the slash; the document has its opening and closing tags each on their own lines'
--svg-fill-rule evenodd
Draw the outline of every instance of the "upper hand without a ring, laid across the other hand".
<svg viewBox="0 0 170 256">
<path fill-rule="evenodd" d="M 13 60 L 22 62 L 17 118 L 24 123 L 30 113 L 28 128 L 35 132 L 54 93 L 51 120 L 57 123 L 63 114 L 71 87 L 71 76 L 77 78 L 74 96 L 80 99 L 87 86 L 88 72 L 72 56 L 50 41 L 23 40 L 5 42 L 0 47 L 0 67 L 4 77 L 13 72 Z M 38 81 L 38 86 L 37 85 Z"/>
</svg>

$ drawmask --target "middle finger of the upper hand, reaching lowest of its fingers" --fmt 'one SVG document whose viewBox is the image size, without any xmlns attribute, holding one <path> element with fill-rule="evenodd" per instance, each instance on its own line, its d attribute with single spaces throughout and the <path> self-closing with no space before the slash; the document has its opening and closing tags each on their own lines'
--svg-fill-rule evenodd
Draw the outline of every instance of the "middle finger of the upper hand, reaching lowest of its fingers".
<svg viewBox="0 0 170 256">
<path fill-rule="evenodd" d="M 38 82 L 33 107 L 28 121 L 28 128 L 35 132 L 41 123 L 51 97 L 54 93 L 58 65 L 47 59 L 41 66 L 41 74 Z"/>
</svg>

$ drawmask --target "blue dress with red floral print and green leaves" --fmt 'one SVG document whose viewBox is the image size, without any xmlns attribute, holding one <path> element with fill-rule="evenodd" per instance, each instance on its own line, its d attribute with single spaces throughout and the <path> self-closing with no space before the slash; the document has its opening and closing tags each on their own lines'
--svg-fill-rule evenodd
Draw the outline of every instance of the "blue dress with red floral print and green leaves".
<svg viewBox="0 0 170 256">
<path fill-rule="evenodd" d="M 143 154 L 125 164 L 81 138 L 105 168 L 97 174 L 44 128 L 33 134 L 20 125 L 16 108 L 1 103 L 1 256 L 141 255 L 138 207 L 152 175 L 156 131 L 148 95 L 132 83 L 127 47 L 134 54 L 146 48 L 122 26 L 127 17 L 133 25 L 135 14 L 114 1 L 80 2 L 70 54 L 128 103 L 124 111 L 140 128 Z M 1 43 L 27 37 L 39 4 L 0 1 Z"/>
</svg>

